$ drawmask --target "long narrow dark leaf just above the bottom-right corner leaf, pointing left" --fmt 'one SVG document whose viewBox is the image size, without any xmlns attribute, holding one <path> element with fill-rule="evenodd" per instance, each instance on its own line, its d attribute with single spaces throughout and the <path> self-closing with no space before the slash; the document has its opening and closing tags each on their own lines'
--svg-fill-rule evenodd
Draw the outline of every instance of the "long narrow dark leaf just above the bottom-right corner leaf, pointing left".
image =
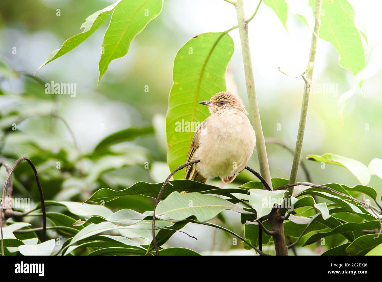
<svg viewBox="0 0 382 282">
<path fill-rule="evenodd" d="M 321 238 L 335 235 L 335 234 L 340 234 L 340 233 L 345 233 L 345 232 L 353 232 L 356 230 L 373 230 L 373 229 L 379 229 L 380 224 L 378 220 L 373 220 L 373 221 L 366 221 L 366 222 L 361 222 L 361 223 L 356 223 L 356 222 L 350 222 L 350 223 L 345 223 L 342 225 L 337 226 L 335 229 L 330 230 L 329 232 L 321 232 L 312 235 L 311 237 L 306 240 L 304 243 L 304 246 L 310 245 Z"/>
</svg>

